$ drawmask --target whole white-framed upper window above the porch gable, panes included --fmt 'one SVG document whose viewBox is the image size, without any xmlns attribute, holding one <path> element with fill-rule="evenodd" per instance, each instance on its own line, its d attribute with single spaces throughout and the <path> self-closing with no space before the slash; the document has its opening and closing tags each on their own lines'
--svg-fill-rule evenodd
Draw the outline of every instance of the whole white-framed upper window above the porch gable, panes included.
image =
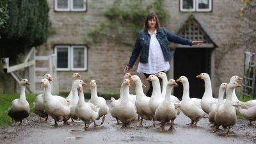
<svg viewBox="0 0 256 144">
<path fill-rule="evenodd" d="M 181 12 L 211 12 L 212 0 L 180 0 Z"/>
</svg>

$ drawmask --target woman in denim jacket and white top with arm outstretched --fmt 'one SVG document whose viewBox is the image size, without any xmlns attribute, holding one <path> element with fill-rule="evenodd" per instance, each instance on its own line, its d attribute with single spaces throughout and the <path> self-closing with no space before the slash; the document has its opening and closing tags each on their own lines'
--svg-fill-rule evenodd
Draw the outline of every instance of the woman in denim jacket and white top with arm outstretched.
<svg viewBox="0 0 256 144">
<path fill-rule="evenodd" d="M 131 54 L 128 65 L 124 72 L 129 72 L 140 54 L 140 63 L 137 72 L 143 73 L 145 77 L 157 72 L 167 72 L 170 69 L 171 51 L 168 42 L 174 42 L 182 45 L 201 45 L 202 41 L 191 41 L 186 38 L 174 35 L 164 28 L 160 27 L 160 22 L 156 13 L 147 15 L 143 30 L 139 32 Z M 160 79 L 161 81 L 161 79 Z M 147 96 L 152 95 L 152 83 L 147 92 Z"/>
</svg>

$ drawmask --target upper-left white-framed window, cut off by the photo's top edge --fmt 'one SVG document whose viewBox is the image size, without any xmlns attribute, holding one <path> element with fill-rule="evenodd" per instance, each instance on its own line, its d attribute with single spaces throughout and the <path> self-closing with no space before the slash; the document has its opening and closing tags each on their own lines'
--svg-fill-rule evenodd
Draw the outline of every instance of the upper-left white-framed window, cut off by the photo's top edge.
<svg viewBox="0 0 256 144">
<path fill-rule="evenodd" d="M 54 0 L 54 10 L 58 12 L 85 12 L 86 0 Z"/>
</svg>

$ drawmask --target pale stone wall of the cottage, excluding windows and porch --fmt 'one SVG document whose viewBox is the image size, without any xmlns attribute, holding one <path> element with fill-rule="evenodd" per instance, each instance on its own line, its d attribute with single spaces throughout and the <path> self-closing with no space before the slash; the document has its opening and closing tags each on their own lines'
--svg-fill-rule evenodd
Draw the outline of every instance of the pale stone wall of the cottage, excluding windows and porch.
<svg viewBox="0 0 256 144">
<path fill-rule="evenodd" d="M 87 12 L 54 12 L 53 1 L 49 0 L 51 8 L 49 15 L 52 20 L 51 36 L 46 44 L 37 47 L 37 54 L 52 54 L 55 44 L 86 44 L 86 35 L 100 20 L 105 19 L 102 13 L 111 3 L 113 1 L 89 0 Z M 170 31 L 174 31 L 179 22 L 191 14 L 179 11 L 179 1 L 165 1 L 164 6 L 166 12 L 170 14 L 170 22 L 165 26 Z M 227 83 L 231 76 L 243 74 L 244 49 L 228 46 L 234 42 L 232 38 L 236 35 L 233 26 L 238 21 L 235 17 L 239 13 L 239 6 L 239 1 L 213 1 L 212 12 L 193 13 L 218 40 L 219 47 L 216 48 L 218 67 L 216 67 L 214 92 L 218 92 L 220 83 Z M 142 27 L 143 24 L 141 24 Z M 131 39 L 134 42 L 136 40 L 136 38 Z M 108 38 L 88 46 L 88 70 L 79 73 L 87 83 L 90 79 L 95 79 L 98 92 L 118 93 L 124 76 L 124 67 L 129 61 L 133 47 L 109 41 Z M 223 49 L 227 47 L 228 51 L 223 54 Z M 132 68 L 132 74 L 137 74 L 137 63 L 138 61 Z M 58 72 L 60 92 L 68 92 L 71 89 L 72 73 Z M 143 83 L 147 84 L 145 77 L 139 76 L 143 79 Z M 89 91 L 88 86 L 85 90 Z M 134 86 L 131 86 L 131 92 L 134 92 Z"/>
</svg>

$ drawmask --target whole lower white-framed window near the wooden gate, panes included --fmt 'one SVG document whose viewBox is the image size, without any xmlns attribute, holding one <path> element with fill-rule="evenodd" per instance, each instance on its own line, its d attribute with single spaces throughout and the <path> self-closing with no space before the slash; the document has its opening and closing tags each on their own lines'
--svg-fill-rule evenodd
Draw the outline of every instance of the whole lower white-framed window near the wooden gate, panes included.
<svg viewBox="0 0 256 144">
<path fill-rule="evenodd" d="M 87 48 L 85 45 L 56 45 L 57 70 L 87 70 Z"/>
</svg>

